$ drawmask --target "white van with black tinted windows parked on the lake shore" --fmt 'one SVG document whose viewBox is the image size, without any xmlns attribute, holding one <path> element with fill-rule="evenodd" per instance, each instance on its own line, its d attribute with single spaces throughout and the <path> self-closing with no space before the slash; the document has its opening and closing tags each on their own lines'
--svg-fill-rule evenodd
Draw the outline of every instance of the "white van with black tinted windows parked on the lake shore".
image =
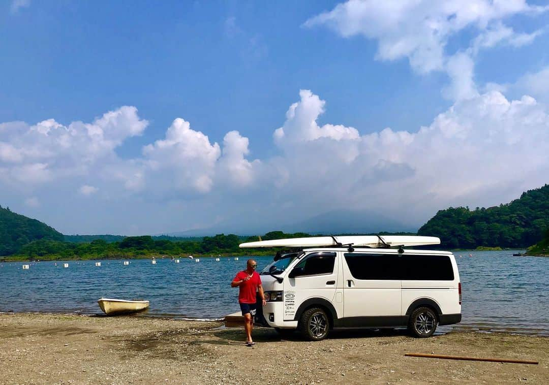
<svg viewBox="0 0 549 385">
<path fill-rule="evenodd" d="M 279 332 L 298 329 L 320 341 L 331 329 L 363 327 L 407 327 L 414 336 L 429 337 L 437 325 L 460 322 L 461 283 L 453 254 L 404 250 L 402 237 L 392 238 L 397 250 L 385 241 L 355 248 L 334 238 L 337 247 L 277 253 L 261 272 L 266 324 Z M 241 246 L 266 242 L 272 243 Z"/>
</svg>

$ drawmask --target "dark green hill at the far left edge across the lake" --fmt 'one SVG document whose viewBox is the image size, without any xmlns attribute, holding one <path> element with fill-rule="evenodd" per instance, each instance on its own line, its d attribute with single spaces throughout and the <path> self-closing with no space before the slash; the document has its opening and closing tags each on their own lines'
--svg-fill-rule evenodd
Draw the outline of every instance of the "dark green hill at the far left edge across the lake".
<svg viewBox="0 0 549 385">
<path fill-rule="evenodd" d="M 0 206 L 0 256 L 9 256 L 36 240 L 63 241 L 63 234 L 36 219 Z"/>
</svg>

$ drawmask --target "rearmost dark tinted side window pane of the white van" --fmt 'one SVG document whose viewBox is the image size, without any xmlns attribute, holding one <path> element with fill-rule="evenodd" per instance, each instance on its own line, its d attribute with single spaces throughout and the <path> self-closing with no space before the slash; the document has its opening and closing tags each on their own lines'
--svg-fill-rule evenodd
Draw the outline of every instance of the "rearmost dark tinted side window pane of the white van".
<svg viewBox="0 0 549 385">
<path fill-rule="evenodd" d="M 449 256 L 402 254 L 402 280 L 453 281 Z"/>
</svg>

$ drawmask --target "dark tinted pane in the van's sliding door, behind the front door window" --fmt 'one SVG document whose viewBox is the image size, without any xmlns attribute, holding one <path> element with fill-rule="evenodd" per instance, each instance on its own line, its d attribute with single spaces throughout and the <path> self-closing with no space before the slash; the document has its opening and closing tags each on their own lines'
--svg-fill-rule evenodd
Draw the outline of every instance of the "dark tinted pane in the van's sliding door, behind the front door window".
<svg viewBox="0 0 549 385">
<path fill-rule="evenodd" d="M 400 280 L 399 257 L 395 254 L 345 253 L 344 256 L 356 279 Z"/>
</svg>

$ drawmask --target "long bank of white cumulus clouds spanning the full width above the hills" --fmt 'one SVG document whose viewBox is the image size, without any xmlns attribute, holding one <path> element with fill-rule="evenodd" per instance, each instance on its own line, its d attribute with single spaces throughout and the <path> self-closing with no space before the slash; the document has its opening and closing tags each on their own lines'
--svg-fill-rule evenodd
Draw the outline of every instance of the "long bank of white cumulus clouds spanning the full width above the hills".
<svg viewBox="0 0 549 385">
<path fill-rule="evenodd" d="M 4 197 L 12 191 L 16 199 L 18 189 L 40 197 L 40 206 L 55 207 L 72 232 L 82 225 L 75 210 L 88 210 L 96 231 L 139 224 L 140 231 L 159 233 L 220 221 L 228 230 L 245 223 L 272 229 L 333 210 L 378 211 L 418 226 L 441 208 L 491 206 L 547 183 L 549 107 L 533 97 L 476 93 L 425 127 L 368 134 L 343 124 L 319 126 L 328 106 L 301 90 L 281 114 L 282 127 L 273 127 L 276 155 L 262 159 L 250 158 L 253 146 L 238 131 L 220 146 L 182 118 L 144 146 L 142 156 L 121 159 L 114 148 L 146 126 L 133 108 L 69 126 L 3 123 L 0 188 Z M 63 197 L 75 190 L 70 206 Z M 82 201 L 98 191 L 100 203 Z"/>
</svg>

